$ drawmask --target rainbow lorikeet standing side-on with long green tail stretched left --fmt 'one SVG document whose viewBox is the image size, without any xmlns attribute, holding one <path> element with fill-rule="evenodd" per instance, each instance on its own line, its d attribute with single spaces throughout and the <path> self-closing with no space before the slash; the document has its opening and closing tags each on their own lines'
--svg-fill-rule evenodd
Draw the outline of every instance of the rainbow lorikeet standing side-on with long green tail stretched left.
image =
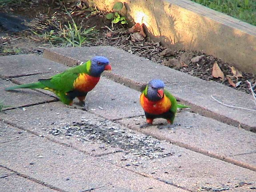
<svg viewBox="0 0 256 192">
<path fill-rule="evenodd" d="M 44 89 L 54 92 L 60 100 L 67 105 L 72 105 L 74 98 L 84 106 L 86 94 L 91 91 L 104 70 L 111 70 L 109 60 L 102 56 L 93 57 L 86 63 L 56 74 L 49 79 L 39 79 L 38 82 L 23 84 L 6 88 L 6 91 L 17 88 Z"/>
</svg>

